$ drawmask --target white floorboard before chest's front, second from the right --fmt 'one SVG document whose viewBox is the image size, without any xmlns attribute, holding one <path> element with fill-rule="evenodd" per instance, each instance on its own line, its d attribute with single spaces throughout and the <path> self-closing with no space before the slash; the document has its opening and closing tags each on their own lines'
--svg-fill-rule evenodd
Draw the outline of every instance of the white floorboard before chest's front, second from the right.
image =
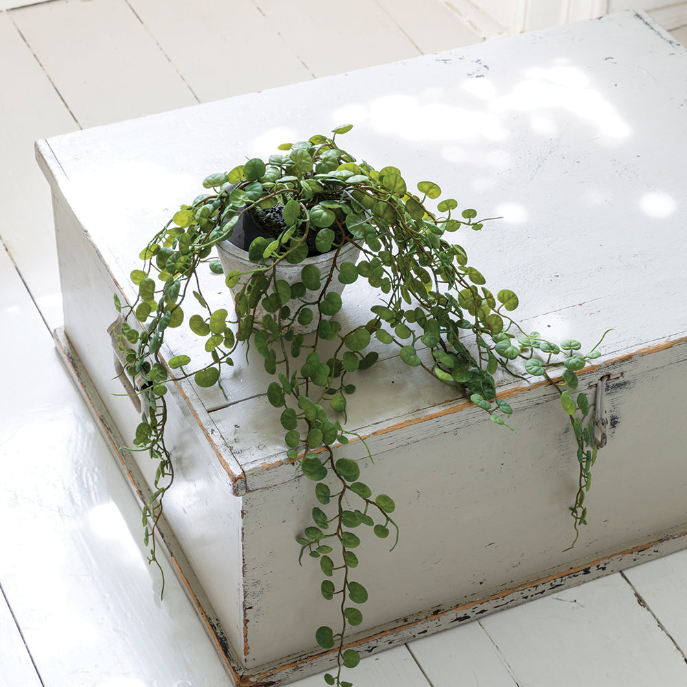
<svg viewBox="0 0 687 687">
<path fill-rule="evenodd" d="M 518 684 L 687 685 L 684 658 L 620 575 L 480 622 Z"/>
</svg>

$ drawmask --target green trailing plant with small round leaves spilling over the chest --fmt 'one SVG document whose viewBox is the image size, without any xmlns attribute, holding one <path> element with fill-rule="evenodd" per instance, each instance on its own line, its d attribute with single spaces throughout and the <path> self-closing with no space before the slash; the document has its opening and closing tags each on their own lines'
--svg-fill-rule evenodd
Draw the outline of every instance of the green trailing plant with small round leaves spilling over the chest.
<svg viewBox="0 0 687 687">
<path fill-rule="evenodd" d="M 346 637 L 350 627 L 363 622 L 359 607 L 368 599 L 355 579 L 361 539 L 354 530 L 368 527 L 379 539 L 393 541 L 390 548 L 398 541 L 393 499 L 373 495 L 359 480 L 357 462 L 341 455 L 355 436 L 345 422 L 355 391 L 352 377 L 379 357 L 371 350 L 373 339 L 396 349 L 403 365 L 421 368 L 509 429 L 512 409 L 497 395 L 497 370 L 521 376 L 523 367 L 553 385 L 577 444 L 578 490 L 570 507 L 575 540 L 586 523 L 584 498 L 597 451 L 589 399 L 576 392 L 577 375 L 600 355 L 599 344 L 582 353 L 574 339 L 554 343 L 522 330 L 510 314 L 518 306 L 517 295 L 510 289 L 490 291 L 453 240 L 459 229 L 480 231 L 484 220 L 471 208 L 458 211 L 458 201 L 442 198 L 432 181 L 410 190 L 398 168 L 376 170 L 355 159 L 337 142 L 350 128 L 284 144 L 267 161 L 249 159 L 207 177 L 206 192 L 181 205 L 142 251 L 142 269 L 131 273 L 135 302 L 122 306 L 115 297 L 123 319 L 122 362 L 137 381 L 144 407 L 135 449 L 159 464 L 143 511 L 150 562 L 157 563 L 157 523 L 174 475 L 165 442 L 168 384 L 192 377 L 200 387 L 221 385 L 223 367 L 252 346 L 273 377 L 266 392 L 280 413 L 286 455 L 315 482 L 313 523 L 297 543 L 299 560 L 307 552 L 319 562 L 320 593 L 336 602 L 336 627 L 320 627 L 315 640 L 336 652 L 337 670 L 325 680 L 339 687 L 351 684 L 342 668 L 359 662 L 357 651 L 346 648 Z M 271 222 L 276 229 L 247 247 L 249 269 L 227 271 L 234 311 L 213 310 L 201 291 L 199 268 L 207 262 L 221 271 L 212 249 L 232 236 L 247 213 L 262 215 L 263 221 L 276 216 Z M 350 244 L 360 251 L 357 262 L 341 258 Z M 302 264 L 313 250 L 330 252 L 326 271 L 304 264 L 295 283 L 280 278 L 281 263 Z M 332 287 L 359 279 L 367 280 L 378 300 L 370 302 L 367 321 L 344 328 L 337 319 L 341 296 Z M 195 302 L 199 312 L 187 317 L 188 302 Z M 161 356 L 167 331 L 183 322 L 204 341 L 207 359 Z M 304 327 L 313 333 L 302 333 Z M 328 477 L 337 486 L 328 486 Z"/>
</svg>

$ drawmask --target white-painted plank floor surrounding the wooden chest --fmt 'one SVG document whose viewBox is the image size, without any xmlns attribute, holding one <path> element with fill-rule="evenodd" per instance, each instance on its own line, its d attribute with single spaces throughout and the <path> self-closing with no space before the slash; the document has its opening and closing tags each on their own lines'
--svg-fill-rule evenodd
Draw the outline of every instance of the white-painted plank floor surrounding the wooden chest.
<svg viewBox="0 0 687 687">
<path fill-rule="evenodd" d="M 34 139 L 478 41 L 437 0 L 0 10 L 0 686 L 230 684 L 171 572 L 159 602 L 139 508 L 54 353 L 58 265 Z M 684 552 L 368 658 L 353 677 L 687 686 L 686 653 Z"/>
</svg>

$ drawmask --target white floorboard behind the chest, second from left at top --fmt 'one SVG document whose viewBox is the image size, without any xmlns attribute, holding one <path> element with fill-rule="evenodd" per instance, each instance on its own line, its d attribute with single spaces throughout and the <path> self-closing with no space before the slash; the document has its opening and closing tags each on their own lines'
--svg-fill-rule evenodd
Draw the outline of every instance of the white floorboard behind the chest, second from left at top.
<svg viewBox="0 0 687 687">
<path fill-rule="evenodd" d="M 198 102 L 120 0 L 57 0 L 13 10 L 12 20 L 80 126 Z"/>
</svg>

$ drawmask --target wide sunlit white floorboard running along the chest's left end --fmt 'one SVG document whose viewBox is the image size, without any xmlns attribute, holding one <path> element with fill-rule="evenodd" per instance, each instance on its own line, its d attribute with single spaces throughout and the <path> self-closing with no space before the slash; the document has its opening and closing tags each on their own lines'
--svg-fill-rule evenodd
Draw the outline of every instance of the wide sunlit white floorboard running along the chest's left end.
<svg viewBox="0 0 687 687">
<path fill-rule="evenodd" d="M 229 686 L 164 559 L 160 602 L 139 506 L 3 249 L 0 289 L 0 583 L 43 684 Z"/>
</svg>

